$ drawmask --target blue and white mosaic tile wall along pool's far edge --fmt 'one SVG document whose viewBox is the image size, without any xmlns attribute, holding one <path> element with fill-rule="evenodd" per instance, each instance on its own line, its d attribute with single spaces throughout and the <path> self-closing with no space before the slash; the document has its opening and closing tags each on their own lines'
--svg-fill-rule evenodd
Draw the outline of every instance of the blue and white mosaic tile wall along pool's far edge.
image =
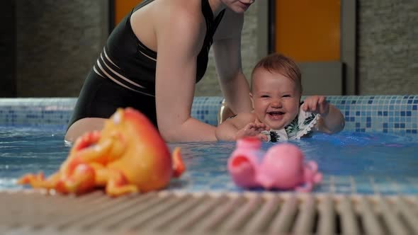
<svg viewBox="0 0 418 235">
<path fill-rule="evenodd" d="M 346 120 L 344 130 L 417 134 L 418 96 L 327 96 Z M 0 125 L 66 126 L 76 98 L 1 98 Z M 220 96 L 193 100 L 191 115 L 210 125 L 218 123 Z"/>
</svg>

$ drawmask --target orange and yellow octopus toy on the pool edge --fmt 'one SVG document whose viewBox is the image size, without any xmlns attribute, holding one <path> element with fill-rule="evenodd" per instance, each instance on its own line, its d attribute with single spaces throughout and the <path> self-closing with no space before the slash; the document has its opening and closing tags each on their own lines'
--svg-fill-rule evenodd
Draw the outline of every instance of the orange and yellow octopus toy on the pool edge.
<svg viewBox="0 0 418 235">
<path fill-rule="evenodd" d="M 174 149 L 171 157 L 145 115 L 120 108 L 101 132 L 87 132 L 77 139 L 57 173 L 47 179 L 42 172 L 27 174 L 18 183 L 75 194 L 106 187 L 108 195 L 118 196 L 162 189 L 183 171 L 180 149 Z"/>
</svg>

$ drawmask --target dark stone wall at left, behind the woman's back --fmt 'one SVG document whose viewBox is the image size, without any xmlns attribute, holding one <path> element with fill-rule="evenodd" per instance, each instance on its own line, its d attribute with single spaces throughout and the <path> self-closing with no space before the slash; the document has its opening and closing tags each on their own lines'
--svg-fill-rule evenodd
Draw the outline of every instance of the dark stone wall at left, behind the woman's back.
<svg viewBox="0 0 418 235">
<path fill-rule="evenodd" d="M 78 96 L 108 34 L 103 2 L 16 0 L 18 96 Z"/>
</svg>

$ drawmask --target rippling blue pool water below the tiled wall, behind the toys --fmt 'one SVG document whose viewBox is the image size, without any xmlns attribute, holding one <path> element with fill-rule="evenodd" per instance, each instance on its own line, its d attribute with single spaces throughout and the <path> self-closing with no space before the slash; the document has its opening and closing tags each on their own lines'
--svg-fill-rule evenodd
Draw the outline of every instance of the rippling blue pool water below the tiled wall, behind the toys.
<svg viewBox="0 0 418 235">
<path fill-rule="evenodd" d="M 57 171 L 67 157 L 62 127 L 0 127 L 0 190 L 22 188 L 24 173 Z M 324 180 L 316 193 L 418 195 L 418 135 L 341 132 L 290 141 L 317 161 Z M 264 143 L 268 149 L 277 143 Z M 181 147 L 187 171 L 169 190 L 242 192 L 227 173 L 235 142 L 190 142 Z M 254 190 L 252 190 L 254 191 Z M 255 190 L 260 191 L 260 190 Z"/>
</svg>

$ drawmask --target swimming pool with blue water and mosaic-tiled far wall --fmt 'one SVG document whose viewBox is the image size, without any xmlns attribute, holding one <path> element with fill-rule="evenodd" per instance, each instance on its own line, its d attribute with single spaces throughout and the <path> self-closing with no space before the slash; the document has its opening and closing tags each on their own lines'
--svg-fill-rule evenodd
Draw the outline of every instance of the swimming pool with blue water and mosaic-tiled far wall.
<svg viewBox="0 0 418 235">
<path fill-rule="evenodd" d="M 315 193 L 418 194 L 418 97 L 332 96 L 346 118 L 344 132 L 316 134 L 293 141 L 324 173 Z M 216 124 L 222 98 L 201 97 L 192 115 Z M 0 189 L 16 189 L 23 173 L 57 170 L 69 147 L 62 142 L 74 98 L 0 101 Z M 188 166 L 169 190 L 242 192 L 230 180 L 226 161 L 233 142 L 169 144 L 180 146 Z M 271 147 L 264 143 L 264 149 Z M 254 190 L 253 190 L 254 191 Z"/>
</svg>

